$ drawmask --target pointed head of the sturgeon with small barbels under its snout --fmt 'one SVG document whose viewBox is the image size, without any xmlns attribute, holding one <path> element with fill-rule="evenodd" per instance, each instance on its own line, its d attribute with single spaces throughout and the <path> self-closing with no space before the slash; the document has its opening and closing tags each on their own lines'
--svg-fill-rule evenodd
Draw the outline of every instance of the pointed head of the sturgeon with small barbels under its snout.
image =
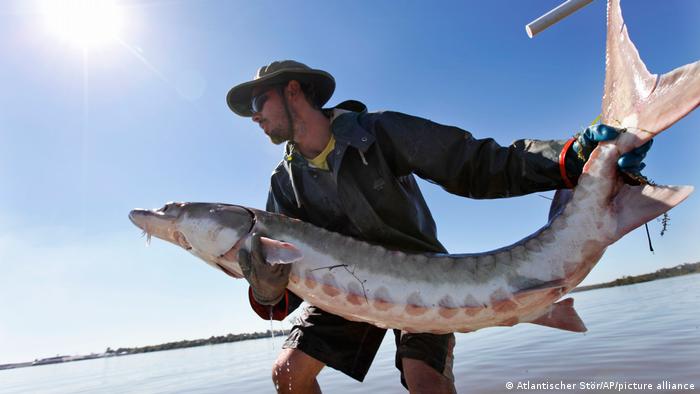
<svg viewBox="0 0 700 394">
<path fill-rule="evenodd" d="M 159 209 L 134 209 L 129 219 L 151 236 L 182 247 L 212 266 L 224 264 L 239 277 L 237 252 L 255 218 L 248 209 L 229 204 L 169 202 Z"/>
</svg>

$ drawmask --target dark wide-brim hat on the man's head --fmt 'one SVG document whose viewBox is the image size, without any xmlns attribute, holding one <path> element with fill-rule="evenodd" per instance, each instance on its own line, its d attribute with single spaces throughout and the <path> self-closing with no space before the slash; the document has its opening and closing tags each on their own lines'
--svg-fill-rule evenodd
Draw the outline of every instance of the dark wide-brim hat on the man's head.
<svg viewBox="0 0 700 394">
<path fill-rule="evenodd" d="M 282 84 L 291 80 L 312 85 L 319 108 L 330 100 L 335 90 L 335 79 L 331 74 L 323 70 L 314 70 L 294 60 L 281 60 L 260 67 L 252 81 L 232 87 L 226 95 L 226 103 L 231 111 L 240 116 L 253 116 L 250 101 L 255 88 Z"/>
</svg>

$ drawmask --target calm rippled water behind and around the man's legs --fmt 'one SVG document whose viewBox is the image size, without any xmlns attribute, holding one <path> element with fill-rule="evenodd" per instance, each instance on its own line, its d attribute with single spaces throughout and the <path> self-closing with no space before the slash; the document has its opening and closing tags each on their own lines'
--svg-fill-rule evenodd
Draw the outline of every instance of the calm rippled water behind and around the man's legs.
<svg viewBox="0 0 700 394">
<path fill-rule="evenodd" d="M 576 293 L 588 333 L 531 324 L 458 334 L 460 393 L 502 393 L 507 382 L 581 390 L 579 382 L 692 383 L 700 392 L 700 275 Z M 0 393 L 273 393 L 272 362 L 281 338 L 0 371 Z M 387 334 L 364 383 L 330 368 L 319 376 L 329 393 L 405 393 Z M 640 390 L 628 390 L 634 392 Z M 526 390 L 511 390 L 526 392 Z M 538 392 L 527 390 L 527 392 Z M 645 392 L 649 392 L 646 390 Z M 674 391 L 678 392 L 678 391 Z"/>
</svg>

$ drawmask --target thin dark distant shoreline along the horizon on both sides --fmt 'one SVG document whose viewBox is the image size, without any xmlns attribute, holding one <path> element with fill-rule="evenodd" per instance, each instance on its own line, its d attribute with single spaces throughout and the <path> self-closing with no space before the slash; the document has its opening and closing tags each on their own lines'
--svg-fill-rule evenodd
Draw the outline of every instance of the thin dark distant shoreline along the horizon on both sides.
<svg viewBox="0 0 700 394">
<path fill-rule="evenodd" d="M 686 264 L 677 265 L 677 266 L 671 267 L 671 268 L 661 268 L 661 269 L 657 270 L 656 272 L 653 272 L 650 274 L 624 276 L 622 278 L 616 279 L 616 280 L 611 281 L 611 282 L 599 283 L 599 284 L 589 285 L 589 286 L 579 286 L 579 287 L 573 289 L 571 291 L 571 293 L 588 291 L 588 290 L 596 290 L 596 289 L 605 289 L 608 287 L 627 286 L 627 285 L 633 285 L 633 284 L 637 284 L 637 283 L 650 282 L 650 281 L 657 280 L 657 279 L 666 279 L 666 278 L 672 278 L 672 277 L 676 277 L 676 276 L 697 274 L 697 273 L 700 273 L 700 262 L 686 263 Z M 273 333 L 270 330 L 267 330 L 266 332 L 254 332 L 254 333 L 245 333 L 245 334 L 228 334 L 228 335 L 222 335 L 222 336 L 211 336 L 211 337 L 206 338 L 206 339 L 194 339 L 194 340 L 182 340 L 182 341 L 177 341 L 177 342 L 167 342 L 167 343 L 162 343 L 160 345 L 150 345 L 150 346 L 141 346 L 141 347 L 133 347 L 133 348 L 118 348 L 117 350 L 112 350 L 111 348 L 107 348 L 107 350 L 104 353 L 93 353 L 93 354 L 83 355 L 83 356 L 56 356 L 56 357 L 37 359 L 34 361 L 24 362 L 24 363 L 1 364 L 0 370 L 13 369 L 13 368 L 23 368 L 23 367 L 34 367 L 34 366 L 47 365 L 47 364 L 58 364 L 58 363 L 71 362 L 71 361 L 92 360 L 92 359 L 96 359 L 96 358 L 105 358 L 105 357 L 126 356 L 126 355 L 130 355 L 130 354 L 138 354 L 138 353 L 159 352 L 159 351 L 163 351 L 163 350 L 184 349 L 184 348 L 198 347 L 198 346 L 204 346 L 204 345 L 217 345 L 220 343 L 240 342 L 240 341 L 247 341 L 250 339 L 271 337 L 272 334 Z M 279 330 L 279 331 L 275 330 L 274 331 L 275 336 L 286 335 L 286 334 L 288 334 L 288 330 Z"/>
</svg>

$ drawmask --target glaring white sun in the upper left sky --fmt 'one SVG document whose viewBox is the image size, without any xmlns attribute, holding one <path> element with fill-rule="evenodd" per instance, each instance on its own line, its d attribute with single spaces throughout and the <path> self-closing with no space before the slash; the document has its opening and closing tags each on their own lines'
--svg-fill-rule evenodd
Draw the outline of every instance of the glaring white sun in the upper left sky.
<svg viewBox="0 0 700 394">
<path fill-rule="evenodd" d="M 115 0 L 44 0 L 48 29 L 66 43 L 91 48 L 116 41 L 124 15 Z"/>
</svg>

